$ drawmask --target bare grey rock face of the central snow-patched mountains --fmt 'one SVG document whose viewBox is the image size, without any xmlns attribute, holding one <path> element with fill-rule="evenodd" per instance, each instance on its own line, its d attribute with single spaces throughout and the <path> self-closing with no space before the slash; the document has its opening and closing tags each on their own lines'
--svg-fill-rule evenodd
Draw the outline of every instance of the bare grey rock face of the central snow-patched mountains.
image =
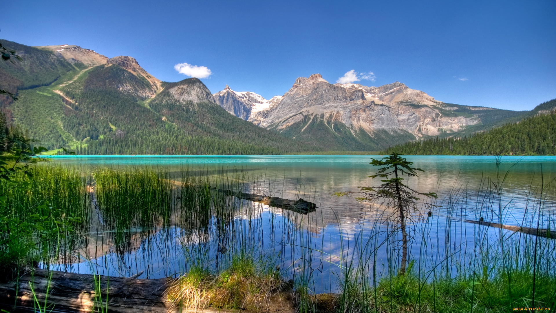
<svg viewBox="0 0 556 313">
<path fill-rule="evenodd" d="M 226 89 L 215 95 L 224 97 L 227 92 L 235 91 Z M 324 116 L 324 119 L 345 124 L 352 131 L 363 129 L 371 136 L 377 130 L 405 130 L 420 137 L 458 131 L 479 122 L 475 116 L 446 116 L 446 111 L 455 108 L 397 81 L 379 87 L 330 84 L 320 74 L 313 74 L 299 77 L 284 96 L 267 101 L 266 107 L 259 110 L 252 109 L 252 102 L 230 96 L 222 100 L 217 97 L 217 103 L 227 106 L 226 110 L 236 116 L 244 119 L 247 116 L 246 119 L 256 125 L 277 130 L 285 130 L 302 120 L 312 120 L 314 116 Z M 241 116 L 237 115 L 240 112 Z"/>
</svg>

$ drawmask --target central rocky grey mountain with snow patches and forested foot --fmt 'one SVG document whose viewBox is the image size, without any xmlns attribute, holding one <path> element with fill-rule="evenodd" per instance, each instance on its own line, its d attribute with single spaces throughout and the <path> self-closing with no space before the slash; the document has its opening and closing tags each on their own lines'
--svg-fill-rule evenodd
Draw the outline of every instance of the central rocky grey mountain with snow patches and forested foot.
<svg viewBox="0 0 556 313">
<path fill-rule="evenodd" d="M 447 104 L 397 81 L 379 87 L 330 84 L 320 74 L 299 77 L 284 95 L 270 100 L 229 86 L 214 96 L 239 118 L 335 150 L 380 150 L 431 136 L 460 136 L 529 112 Z"/>
</svg>

